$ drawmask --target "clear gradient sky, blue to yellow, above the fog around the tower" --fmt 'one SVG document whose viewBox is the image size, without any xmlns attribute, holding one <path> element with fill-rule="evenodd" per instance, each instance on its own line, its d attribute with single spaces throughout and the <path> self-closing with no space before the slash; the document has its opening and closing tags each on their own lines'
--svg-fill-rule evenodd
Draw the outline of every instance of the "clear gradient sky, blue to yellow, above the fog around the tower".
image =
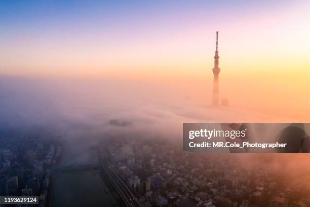
<svg viewBox="0 0 310 207">
<path fill-rule="evenodd" d="M 208 99 L 219 31 L 221 98 L 304 114 L 309 10 L 308 1 L 2 0 L 0 75 L 175 83 Z"/>
</svg>

